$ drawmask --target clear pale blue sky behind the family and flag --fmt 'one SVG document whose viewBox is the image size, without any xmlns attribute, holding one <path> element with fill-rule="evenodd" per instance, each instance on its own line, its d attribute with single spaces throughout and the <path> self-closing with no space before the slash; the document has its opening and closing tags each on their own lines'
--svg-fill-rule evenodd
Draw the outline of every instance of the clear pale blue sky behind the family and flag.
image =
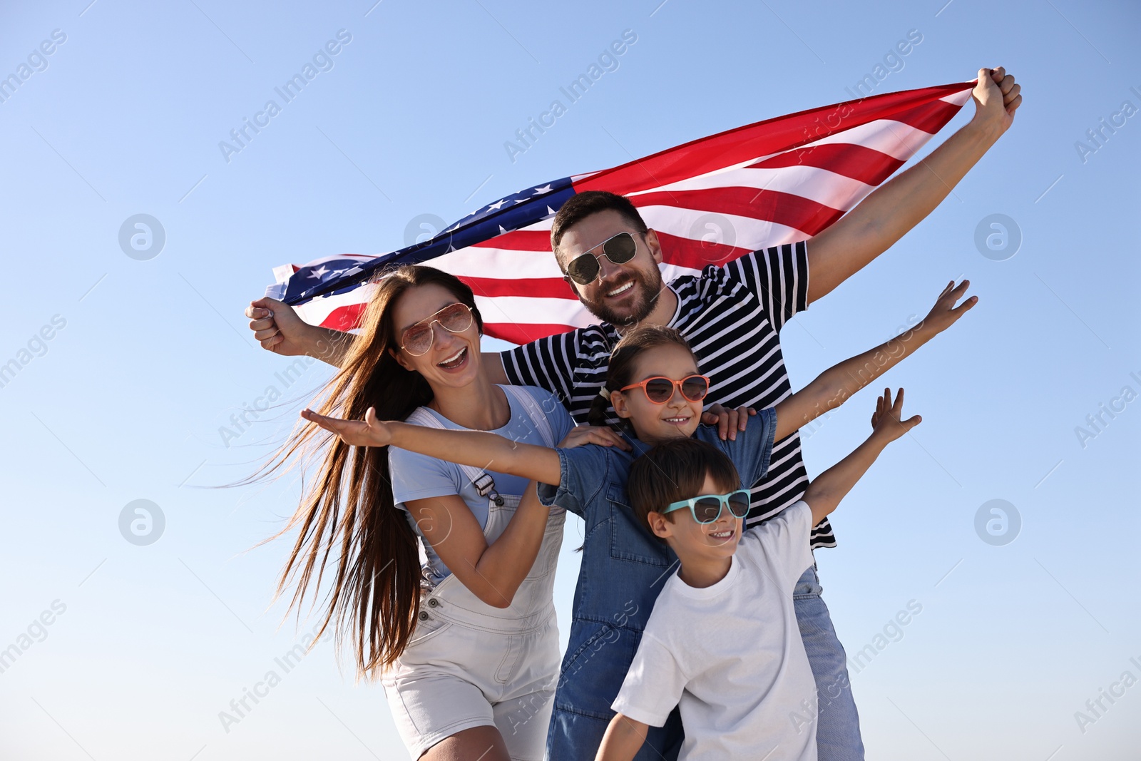
<svg viewBox="0 0 1141 761">
<path fill-rule="evenodd" d="M 354 685 L 332 647 L 289 673 L 275 662 L 311 624 L 278 629 L 288 543 L 251 548 L 292 512 L 297 479 L 202 488 L 249 473 L 329 375 L 315 364 L 286 388 L 290 361 L 252 341 L 245 303 L 272 267 L 398 248 L 419 214 L 451 221 L 848 99 L 917 30 L 877 91 L 1002 64 L 1026 104 L 939 209 L 783 333 L 799 388 L 923 315 L 948 280 L 980 297 L 887 377 L 924 422 L 841 505 L 840 547 L 817 553 L 850 654 L 922 606 L 852 677 L 869 758 L 1135 758 L 1141 686 L 1086 709 L 1124 672 L 1141 679 L 1134 3 L 88 1 L 9 3 L 0 23 L 0 75 L 27 65 L 0 102 L 0 363 L 19 364 L 0 388 L 0 648 L 17 651 L 0 673 L 0 755 L 402 758 L 382 690 Z M 332 67 L 227 162 L 219 141 L 339 30 L 351 41 Z M 617 70 L 512 162 L 504 141 L 624 30 L 638 39 Z M 1102 119 L 1118 126 L 1093 144 Z M 165 233 L 148 260 L 119 243 L 139 213 Z M 994 213 L 1022 236 L 1002 261 L 974 245 Z M 222 442 L 269 387 L 292 402 Z M 863 439 L 873 400 L 811 429 L 810 473 Z M 1094 430 L 1100 405 L 1117 412 Z M 974 528 L 996 499 L 1021 518 L 1005 545 Z M 153 544 L 120 533 L 135 500 L 164 516 Z M 564 625 L 576 561 L 560 568 Z M 272 670 L 281 682 L 224 727 Z M 1095 721 L 1079 728 L 1077 711 Z"/>
</svg>

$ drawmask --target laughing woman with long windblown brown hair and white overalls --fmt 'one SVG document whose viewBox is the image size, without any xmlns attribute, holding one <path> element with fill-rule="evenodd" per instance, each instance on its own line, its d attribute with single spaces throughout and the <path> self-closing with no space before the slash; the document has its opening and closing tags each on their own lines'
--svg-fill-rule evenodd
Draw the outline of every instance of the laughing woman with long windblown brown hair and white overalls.
<svg viewBox="0 0 1141 761">
<path fill-rule="evenodd" d="M 544 452 L 559 440 L 621 442 L 606 430 L 570 435 L 570 416 L 547 391 L 491 383 L 482 329 L 471 290 L 454 276 L 418 266 L 388 274 L 322 412 L 379 410 L 413 428 L 488 431 L 507 447 Z M 281 461 L 317 431 L 286 445 Z M 335 618 L 358 673 L 382 677 L 413 759 L 539 761 L 558 670 L 551 598 L 563 510 L 539 504 L 526 477 L 484 470 L 483 458 L 461 468 L 327 438 L 319 476 L 284 529 L 300 534 L 280 590 L 298 580 L 291 607 L 316 594 L 335 548 L 321 631 Z"/>
</svg>

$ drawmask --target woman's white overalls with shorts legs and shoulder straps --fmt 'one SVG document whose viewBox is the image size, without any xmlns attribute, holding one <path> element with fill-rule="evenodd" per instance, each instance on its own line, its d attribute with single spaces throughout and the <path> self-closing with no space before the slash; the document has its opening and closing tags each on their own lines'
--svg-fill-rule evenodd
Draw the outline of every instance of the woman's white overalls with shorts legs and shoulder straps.
<svg viewBox="0 0 1141 761">
<path fill-rule="evenodd" d="M 501 388 L 527 412 L 547 446 L 555 446 L 534 397 Z M 444 427 L 424 410 L 407 420 Z M 484 536 L 491 544 L 507 528 L 520 495 L 496 494 L 492 478 L 477 468 L 464 467 L 463 473 L 488 496 Z M 542 760 L 559 670 L 552 598 L 565 518 L 560 508 L 551 508 L 539 557 L 509 607 L 487 605 L 454 574 L 421 593 L 413 639 L 381 680 L 413 759 L 463 729 L 494 726 L 512 759 Z"/>
</svg>

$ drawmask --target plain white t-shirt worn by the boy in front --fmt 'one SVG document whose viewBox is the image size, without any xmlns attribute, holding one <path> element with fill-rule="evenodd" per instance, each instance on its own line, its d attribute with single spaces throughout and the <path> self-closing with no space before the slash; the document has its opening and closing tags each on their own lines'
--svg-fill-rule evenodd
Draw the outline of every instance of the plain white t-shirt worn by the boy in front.
<svg viewBox="0 0 1141 761">
<path fill-rule="evenodd" d="M 811 529 L 802 500 L 745 532 L 717 584 L 671 576 L 610 707 L 661 727 L 680 705 L 679 761 L 815 761 L 816 681 L 792 601 Z"/>
</svg>

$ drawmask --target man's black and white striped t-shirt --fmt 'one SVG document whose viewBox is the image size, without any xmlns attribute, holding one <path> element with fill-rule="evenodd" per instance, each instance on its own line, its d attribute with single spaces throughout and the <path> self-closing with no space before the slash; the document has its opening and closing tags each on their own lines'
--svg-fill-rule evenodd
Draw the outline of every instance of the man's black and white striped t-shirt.
<svg viewBox="0 0 1141 761">
<path fill-rule="evenodd" d="M 678 296 L 678 309 L 667 324 L 686 337 L 702 373 L 710 378 L 706 404 L 763 410 L 792 394 L 778 334 L 808 307 L 803 241 L 705 267 L 669 286 Z M 503 367 L 512 383 L 548 389 L 578 423 L 585 423 L 606 383 L 618 338 L 608 323 L 580 327 L 504 351 Z M 807 486 L 800 434 L 792 434 L 774 445 L 768 473 L 753 485 L 746 527 L 796 502 Z M 835 547 L 827 519 L 812 529 L 812 548 L 817 547 Z"/>
</svg>

